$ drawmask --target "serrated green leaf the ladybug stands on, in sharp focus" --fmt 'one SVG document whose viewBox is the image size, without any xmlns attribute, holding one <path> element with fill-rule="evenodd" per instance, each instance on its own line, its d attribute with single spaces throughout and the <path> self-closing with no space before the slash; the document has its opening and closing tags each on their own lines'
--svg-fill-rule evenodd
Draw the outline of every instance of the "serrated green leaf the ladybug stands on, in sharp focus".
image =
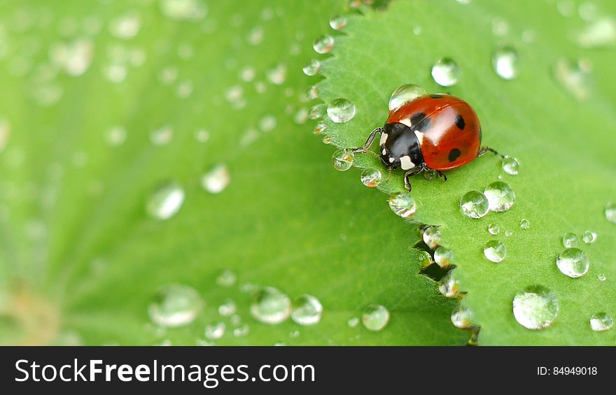
<svg viewBox="0 0 616 395">
<path fill-rule="evenodd" d="M 597 21 L 614 27 L 615 8 L 609 1 L 594 4 L 596 16 L 585 21 L 574 2 L 565 7 L 537 1 L 397 1 L 383 13 L 366 9 L 364 16 L 349 20 L 345 35 L 336 38 L 334 57 L 323 64 L 321 99 L 329 103 L 344 97 L 356 106 L 350 122 L 325 125 L 339 147 L 363 144 L 384 123 L 391 92 L 413 83 L 471 103 L 482 121 L 483 143 L 519 159 L 521 171 L 515 176 L 502 171 L 498 157 L 486 155 L 447 172 L 446 183 L 421 176 L 412 180 L 418 206 L 414 220 L 440 225 L 442 245 L 454 253 L 454 278 L 467 293 L 463 306 L 481 326 L 479 344 L 615 342 L 613 331 L 594 332 L 589 326 L 594 313 L 616 315 L 616 225 L 604 213 L 608 202 L 616 201 L 615 39 L 612 31 L 603 46 L 577 43 Z M 502 45 L 517 50 L 514 80 L 503 80 L 492 69 L 493 52 Z M 461 70 L 452 87 L 440 87 L 430 76 L 442 57 L 454 59 Z M 589 76 L 563 84 L 554 74 L 562 59 L 582 59 L 591 68 Z M 382 168 L 370 155 L 357 157 L 356 164 Z M 514 206 L 479 220 L 465 217 L 461 196 L 472 189 L 483 191 L 500 178 L 514 189 Z M 395 172 L 381 189 L 403 191 L 402 172 Z M 528 229 L 521 229 L 522 219 L 530 222 Z M 498 236 L 486 230 L 490 223 L 500 227 Z M 582 278 L 568 278 L 555 264 L 563 250 L 561 238 L 566 232 L 579 237 L 586 230 L 597 234 L 594 244 L 580 240 L 589 271 Z M 483 254 L 484 243 L 492 239 L 507 247 L 500 264 Z M 605 281 L 598 280 L 600 274 Z M 514 319 L 512 299 L 528 285 L 556 294 L 559 315 L 547 329 L 531 331 Z"/>
</svg>

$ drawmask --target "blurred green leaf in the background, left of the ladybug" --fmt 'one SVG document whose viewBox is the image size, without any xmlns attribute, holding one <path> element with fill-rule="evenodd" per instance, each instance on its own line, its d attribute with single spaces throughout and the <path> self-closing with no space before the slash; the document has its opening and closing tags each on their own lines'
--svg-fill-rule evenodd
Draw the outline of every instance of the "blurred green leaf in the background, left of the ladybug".
<svg viewBox="0 0 616 395">
<path fill-rule="evenodd" d="M 191 3 L 188 19 L 173 8 Z M 227 326 L 216 344 L 466 343 L 449 319 L 454 301 L 417 274 L 415 227 L 332 169 L 302 117 L 302 66 L 342 3 L 209 1 L 200 17 L 197 0 L 3 2 L 1 343 L 194 345 L 216 322 Z M 78 39 L 85 50 L 66 60 L 62 45 Z M 87 48 L 92 63 L 68 75 Z M 206 142 L 195 139 L 202 129 Z M 211 194 L 201 180 L 218 164 L 231 181 Z M 166 181 L 186 201 L 156 220 L 146 205 Z M 216 284 L 225 269 L 232 287 Z M 174 283 L 205 306 L 165 331 L 148 305 Z M 257 322 L 242 291 L 251 285 L 313 294 L 321 322 Z M 239 324 L 218 314 L 228 299 Z M 371 303 L 391 312 L 388 326 L 350 327 Z M 243 324 L 248 334 L 234 336 Z"/>
</svg>

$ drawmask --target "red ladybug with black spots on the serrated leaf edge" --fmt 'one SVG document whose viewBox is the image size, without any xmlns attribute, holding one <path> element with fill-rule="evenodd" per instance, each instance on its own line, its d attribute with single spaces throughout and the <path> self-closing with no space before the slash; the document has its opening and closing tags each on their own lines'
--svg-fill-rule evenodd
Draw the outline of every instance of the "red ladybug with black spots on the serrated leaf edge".
<svg viewBox="0 0 616 395">
<path fill-rule="evenodd" d="M 434 170 L 447 180 L 442 171 L 470 163 L 486 152 L 481 146 L 482 130 L 479 118 L 470 104 L 450 94 L 430 94 L 418 97 L 389 113 L 385 125 L 374 129 L 367 141 L 353 152 L 369 151 L 377 133 L 381 161 L 389 168 L 405 170 L 405 187 L 410 191 L 409 178 L 426 170 Z"/>
</svg>

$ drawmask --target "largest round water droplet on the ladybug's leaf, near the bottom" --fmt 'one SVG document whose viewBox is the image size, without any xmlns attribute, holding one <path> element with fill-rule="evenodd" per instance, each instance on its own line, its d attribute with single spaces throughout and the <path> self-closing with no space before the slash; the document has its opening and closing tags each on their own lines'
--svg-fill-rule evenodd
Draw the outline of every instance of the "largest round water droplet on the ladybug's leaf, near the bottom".
<svg viewBox="0 0 616 395">
<path fill-rule="evenodd" d="M 521 326 L 544 329 L 552 325 L 559 312 L 556 294 L 542 285 L 528 286 L 513 298 L 513 315 Z"/>
</svg>

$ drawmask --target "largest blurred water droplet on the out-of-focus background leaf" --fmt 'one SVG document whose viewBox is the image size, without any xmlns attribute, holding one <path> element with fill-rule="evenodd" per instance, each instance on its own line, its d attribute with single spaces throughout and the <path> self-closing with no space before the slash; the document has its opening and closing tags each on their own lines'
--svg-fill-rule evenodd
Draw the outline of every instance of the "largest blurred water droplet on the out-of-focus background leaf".
<svg viewBox="0 0 616 395">
<path fill-rule="evenodd" d="M 188 325 L 201 310 L 199 293 L 187 285 L 168 285 L 161 288 L 148 306 L 148 315 L 160 326 Z"/>
</svg>

